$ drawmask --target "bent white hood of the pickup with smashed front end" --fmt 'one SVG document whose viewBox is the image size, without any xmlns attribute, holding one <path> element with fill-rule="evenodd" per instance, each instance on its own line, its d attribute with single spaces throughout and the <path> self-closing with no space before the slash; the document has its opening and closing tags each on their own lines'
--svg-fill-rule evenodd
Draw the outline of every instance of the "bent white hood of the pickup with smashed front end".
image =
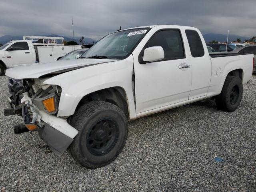
<svg viewBox="0 0 256 192">
<path fill-rule="evenodd" d="M 67 72 L 80 67 L 112 62 L 111 59 L 76 59 L 45 63 L 34 63 L 31 65 L 14 67 L 6 70 L 6 76 L 14 79 L 39 78 L 42 75 L 54 72 Z"/>
</svg>

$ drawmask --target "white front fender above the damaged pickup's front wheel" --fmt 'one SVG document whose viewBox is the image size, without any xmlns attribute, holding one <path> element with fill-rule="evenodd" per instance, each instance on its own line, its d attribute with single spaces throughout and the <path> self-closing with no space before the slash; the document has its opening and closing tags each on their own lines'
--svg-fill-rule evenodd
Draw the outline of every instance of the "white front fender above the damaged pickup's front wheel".
<svg viewBox="0 0 256 192">
<path fill-rule="evenodd" d="M 124 60 L 88 66 L 54 76 L 45 84 L 62 88 L 57 116 L 74 114 L 80 100 L 92 92 L 121 87 L 126 92 L 130 119 L 136 118 L 132 93 L 133 57 Z"/>
</svg>

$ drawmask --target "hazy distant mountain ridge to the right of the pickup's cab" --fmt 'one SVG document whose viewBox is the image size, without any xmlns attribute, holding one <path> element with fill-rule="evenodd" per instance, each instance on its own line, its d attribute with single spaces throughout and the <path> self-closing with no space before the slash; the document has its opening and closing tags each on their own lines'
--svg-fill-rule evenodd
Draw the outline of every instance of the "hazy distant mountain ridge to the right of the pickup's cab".
<svg viewBox="0 0 256 192">
<path fill-rule="evenodd" d="M 215 41 L 218 41 L 218 42 L 226 42 L 227 41 L 227 35 L 228 34 L 224 35 L 224 34 L 208 33 L 208 34 L 204 34 L 203 36 L 204 36 L 204 40 L 206 42 L 210 42 L 212 40 L 215 40 Z M 240 38 L 241 42 L 244 42 L 244 40 L 250 39 L 251 37 L 229 34 L 228 35 L 228 42 L 235 41 L 237 38 Z"/>
</svg>

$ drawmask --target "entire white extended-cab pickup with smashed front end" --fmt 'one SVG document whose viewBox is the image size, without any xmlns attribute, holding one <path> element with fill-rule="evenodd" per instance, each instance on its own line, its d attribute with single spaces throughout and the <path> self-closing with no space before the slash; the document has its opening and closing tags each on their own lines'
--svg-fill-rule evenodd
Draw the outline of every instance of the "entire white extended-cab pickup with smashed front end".
<svg viewBox="0 0 256 192">
<path fill-rule="evenodd" d="M 98 168 L 122 151 L 127 120 L 206 98 L 220 110 L 236 110 L 253 60 L 253 54 L 209 56 L 193 27 L 120 30 L 77 60 L 8 69 L 4 114 L 23 117 L 16 134 L 38 131 L 56 154 L 68 148 L 76 162 Z"/>
</svg>

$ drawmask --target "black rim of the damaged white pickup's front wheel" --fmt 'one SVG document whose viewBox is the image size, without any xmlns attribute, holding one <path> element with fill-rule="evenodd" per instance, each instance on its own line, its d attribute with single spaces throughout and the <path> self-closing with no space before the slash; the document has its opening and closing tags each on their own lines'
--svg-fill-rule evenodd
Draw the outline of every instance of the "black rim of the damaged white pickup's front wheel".
<svg viewBox="0 0 256 192">
<path fill-rule="evenodd" d="M 90 153 L 96 156 L 107 154 L 118 140 L 118 125 L 112 118 L 102 118 L 89 129 L 86 146 Z"/>
</svg>

